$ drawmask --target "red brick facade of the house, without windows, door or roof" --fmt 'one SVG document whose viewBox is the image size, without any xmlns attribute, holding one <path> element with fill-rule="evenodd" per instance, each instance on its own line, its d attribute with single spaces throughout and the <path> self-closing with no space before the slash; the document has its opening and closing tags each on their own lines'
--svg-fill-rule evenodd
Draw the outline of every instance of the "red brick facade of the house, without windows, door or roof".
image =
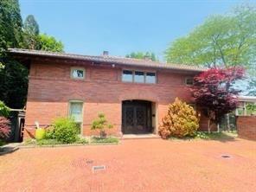
<svg viewBox="0 0 256 192">
<path fill-rule="evenodd" d="M 85 79 L 70 78 L 71 67 L 84 67 Z M 125 69 L 129 67 L 125 67 Z M 144 99 L 156 106 L 155 132 L 166 114 L 167 106 L 176 97 L 192 102 L 186 77 L 192 72 L 131 68 L 157 73 L 156 84 L 125 83 L 121 80 L 122 68 L 97 66 L 92 63 L 70 64 L 64 61 L 32 61 L 29 73 L 29 91 L 26 108 L 25 137 L 35 131 L 35 121 L 49 125 L 56 117 L 67 117 L 70 100 L 83 101 L 83 135 L 90 135 L 92 121 L 99 112 L 114 125 L 112 134 L 121 134 L 122 101 Z M 205 125 L 205 122 L 203 122 Z M 202 127 L 205 130 L 205 127 Z"/>
</svg>

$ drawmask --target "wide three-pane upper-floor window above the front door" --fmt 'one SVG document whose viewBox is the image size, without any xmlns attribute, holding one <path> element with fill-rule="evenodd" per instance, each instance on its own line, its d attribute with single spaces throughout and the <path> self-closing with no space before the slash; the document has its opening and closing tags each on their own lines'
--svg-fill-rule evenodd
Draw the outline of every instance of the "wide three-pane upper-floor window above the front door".
<svg viewBox="0 0 256 192">
<path fill-rule="evenodd" d="M 156 73 L 144 71 L 124 70 L 122 81 L 136 83 L 156 83 Z"/>
</svg>

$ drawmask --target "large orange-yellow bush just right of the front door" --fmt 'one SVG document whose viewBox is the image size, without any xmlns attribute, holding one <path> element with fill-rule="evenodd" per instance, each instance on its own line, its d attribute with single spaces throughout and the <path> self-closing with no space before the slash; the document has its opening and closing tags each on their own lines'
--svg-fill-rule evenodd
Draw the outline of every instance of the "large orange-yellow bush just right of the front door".
<svg viewBox="0 0 256 192">
<path fill-rule="evenodd" d="M 159 135 L 162 138 L 195 136 L 199 127 L 199 119 L 192 106 L 180 99 L 170 104 L 167 115 L 159 126 Z"/>
</svg>

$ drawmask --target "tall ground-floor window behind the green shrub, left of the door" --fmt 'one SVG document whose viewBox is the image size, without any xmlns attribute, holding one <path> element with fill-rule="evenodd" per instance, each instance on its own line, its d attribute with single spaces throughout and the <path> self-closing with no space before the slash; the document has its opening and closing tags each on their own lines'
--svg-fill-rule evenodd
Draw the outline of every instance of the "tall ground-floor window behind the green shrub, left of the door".
<svg viewBox="0 0 256 192">
<path fill-rule="evenodd" d="M 77 124 L 78 132 L 81 133 L 83 122 L 83 102 L 79 100 L 72 100 L 69 102 L 69 117 L 74 118 Z"/>
</svg>

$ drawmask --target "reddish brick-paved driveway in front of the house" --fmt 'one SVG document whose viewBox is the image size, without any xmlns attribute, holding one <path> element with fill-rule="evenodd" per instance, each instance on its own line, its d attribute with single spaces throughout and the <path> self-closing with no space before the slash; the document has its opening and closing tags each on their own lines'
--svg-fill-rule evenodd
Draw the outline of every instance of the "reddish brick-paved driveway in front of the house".
<svg viewBox="0 0 256 192">
<path fill-rule="evenodd" d="M 93 173 L 93 165 L 106 170 Z M 140 139 L 21 149 L 0 157 L 0 176 L 0 191 L 255 191 L 256 142 Z"/>
</svg>

